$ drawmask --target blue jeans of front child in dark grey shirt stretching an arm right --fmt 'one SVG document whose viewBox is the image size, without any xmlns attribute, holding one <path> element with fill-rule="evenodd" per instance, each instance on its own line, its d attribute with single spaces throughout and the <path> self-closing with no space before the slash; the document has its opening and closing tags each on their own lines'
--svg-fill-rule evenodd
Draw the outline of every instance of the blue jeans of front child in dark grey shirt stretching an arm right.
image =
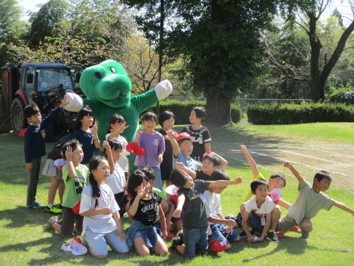
<svg viewBox="0 0 354 266">
<path fill-rule="evenodd" d="M 208 227 L 183 228 L 184 255 L 194 257 L 195 251 L 205 252 L 208 249 Z"/>
</svg>

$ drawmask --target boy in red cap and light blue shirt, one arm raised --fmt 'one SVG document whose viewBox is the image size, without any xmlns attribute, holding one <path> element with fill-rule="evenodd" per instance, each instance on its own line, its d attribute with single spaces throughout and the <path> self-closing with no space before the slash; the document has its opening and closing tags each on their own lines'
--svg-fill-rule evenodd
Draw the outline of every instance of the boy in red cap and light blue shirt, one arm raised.
<svg viewBox="0 0 354 266">
<path fill-rule="evenodd" d="M 181 162 L 194 172 L 198 169 L 202 170 L 202 165 L 190 157 L 193 150 L 193 137 L 186 132 L 178 135 L 173 129 L 167 131 L 167 136 L 170 139 L 173 149 L 173 167 L 176 162 Z"/>
</svg>

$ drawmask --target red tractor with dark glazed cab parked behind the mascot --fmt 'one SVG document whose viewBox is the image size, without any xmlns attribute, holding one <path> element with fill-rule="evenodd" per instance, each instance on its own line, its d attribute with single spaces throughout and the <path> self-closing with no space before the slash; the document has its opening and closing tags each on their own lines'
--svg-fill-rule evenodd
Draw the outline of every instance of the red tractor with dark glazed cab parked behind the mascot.
<svg viewBox="0 0 354 266">
<path fill-rule="evenodd" d="M 9 132 L 12 128 L 15 135 L 27 128 L 28 122 L 23 115 L 29 104 L 37 104 L 42 117 L 46 117 L 60 105 L 65 93 L 70 90 L 80 94 L 74 88 L 70 69 L 58 63 L 25 63 L 20 66 L 6 65 L 1 69 L 2 94 L 0 94 L 0 131 Z M 76 73 L 76 81 L 80 73 Z M 46 140 L 51 141 L 53 135 L 60 135 L 68 128 L 68 122 L 75 113 L 63 109 L 61 116 L 46 129 Z"/>
</svg>

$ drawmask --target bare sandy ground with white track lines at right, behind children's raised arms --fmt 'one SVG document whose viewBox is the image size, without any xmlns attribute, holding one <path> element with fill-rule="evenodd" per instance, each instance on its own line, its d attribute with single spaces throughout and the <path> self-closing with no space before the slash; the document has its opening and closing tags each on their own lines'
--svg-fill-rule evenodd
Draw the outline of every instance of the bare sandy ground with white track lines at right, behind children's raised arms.
<svg viewBox="0 0 354 266">
<path fill-rule="evenodd" d="M 354 145 L 328 142 L 309 142 L 300 140 L 297 143 L 267 143 L 260 141 L 250 143 L 247 150 L 257 165 L 292 176 L 289 169 L 283 167 L 289 161 L 309 182 L 318 170 L 327 170 L 333 180 L 332 185 L 340 188 L 354 189 Z M 246 158 L 239 146 L 220 151 L 225 157 L 245 161 Z"/>
</svg>

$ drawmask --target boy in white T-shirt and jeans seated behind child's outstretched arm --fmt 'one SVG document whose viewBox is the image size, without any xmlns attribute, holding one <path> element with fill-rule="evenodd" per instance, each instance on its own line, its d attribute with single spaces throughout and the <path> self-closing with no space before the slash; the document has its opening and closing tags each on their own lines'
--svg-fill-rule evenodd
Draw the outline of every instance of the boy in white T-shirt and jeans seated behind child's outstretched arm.
<svg viewBox="0 0 354 266">
<path fill-rule="evenodd" d="M 210 181 L 230 180 L 229 175 L 220 169 L 215 169 L 210 175 Z M 232 219 L 225 219 L 221 213 L 221 198 L 220 193 L 224 191 L 226 186 L 209 187 L 204 192 L 205 211 L 210 226 L 209 238 L 218 240 L 220 243 L 226 242 L 226 249 L 231 249 L 229 241 L 240 241 L 239 234 L 232 229 L 235 221 Z"/>
</svg>

